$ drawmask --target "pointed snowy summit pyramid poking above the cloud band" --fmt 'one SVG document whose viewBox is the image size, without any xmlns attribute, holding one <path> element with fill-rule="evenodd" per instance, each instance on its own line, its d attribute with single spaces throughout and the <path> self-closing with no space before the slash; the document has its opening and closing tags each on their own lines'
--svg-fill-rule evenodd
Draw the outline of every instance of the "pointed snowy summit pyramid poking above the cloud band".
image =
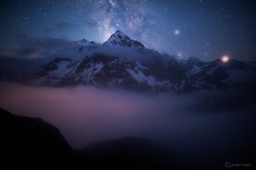
<svg viewBox="0 0 256 170">
<path fill-rule="evenodd" d="M 116 31 L 114 34 L 110 36 L 108 41 L 103 43 L 103 45 L 124 46 L 134 49 L 145 48 L 144 45 L 141 44 L 139 41 L 130 39 L 122 31 Z"/>
</svg>

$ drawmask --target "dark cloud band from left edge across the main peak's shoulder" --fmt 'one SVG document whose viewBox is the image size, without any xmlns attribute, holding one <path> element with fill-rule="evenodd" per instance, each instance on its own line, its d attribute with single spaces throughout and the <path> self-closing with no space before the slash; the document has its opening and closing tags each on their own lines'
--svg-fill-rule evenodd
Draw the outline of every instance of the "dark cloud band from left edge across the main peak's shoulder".
<svg viewBox="0 0 256 170">
<path fill-rule="evenodd" d="M 105 46 L 95 44 L 86 52 L 71 50 L 72 42 L 61 38 L 37 37 L 20 35 L 17 38 L 20 46 L 16 49 L 2 49 L 0 52 L 0 68 L 11 69 L 17 73 L 33 73 L 46 61 L 53 58 L 69 58 L 82 60 L 86 55 L 101 53 L 110 57 L 122 57 L 134 60 L 154 60 L 160 54 L 154 50 L 144 50 L 138 53 L 134 49 L 120 46 Z M 7 50 L 7 51 L 6 51 Z M 168 56 L 169 57 L 169 56 Z"/>
</svg>

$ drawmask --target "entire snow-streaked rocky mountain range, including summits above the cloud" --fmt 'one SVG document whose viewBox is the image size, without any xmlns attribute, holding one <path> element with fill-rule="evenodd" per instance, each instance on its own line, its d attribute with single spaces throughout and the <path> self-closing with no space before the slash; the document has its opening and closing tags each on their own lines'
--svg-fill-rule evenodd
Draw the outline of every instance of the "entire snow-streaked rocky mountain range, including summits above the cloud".
<svg viewBox="0 0 256 170">
<path fill-rule="evenodd" d="M 220 59 L 203 62 L 196 57 L 176 60 L 146 49 L 140 42 L 117 31 L 103 43 L 134 50 L 145 60 L 131 56 L 106 55 L 97 52 L 97 44 L 85 39 L 73 42 L 73 50 L 88 54 L 83 59 L 54 58 L 46 62 L 32 76 L 35 86 L 90 85 L 103 88 L 122 88 L 133 91 L 172 91 L 185 93 L 199 89 L 255 89 L 256 63 Z M 96 52 L 95 52 L 96 51 Z"/>
</svg>

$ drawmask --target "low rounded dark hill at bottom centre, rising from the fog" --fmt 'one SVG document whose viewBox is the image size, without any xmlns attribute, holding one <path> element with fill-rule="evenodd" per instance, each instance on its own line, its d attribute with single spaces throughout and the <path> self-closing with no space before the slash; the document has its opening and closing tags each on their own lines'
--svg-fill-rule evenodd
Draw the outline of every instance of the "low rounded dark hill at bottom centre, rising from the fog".
<svg viewBox="0 0 256 170">
<path fill-rule="evenodd" d="M 77 150 L 93 167 L 103 169 L 177 169 L 173 152 L 148 138 L 123 137 L 96 142 Z"/>
</svg>

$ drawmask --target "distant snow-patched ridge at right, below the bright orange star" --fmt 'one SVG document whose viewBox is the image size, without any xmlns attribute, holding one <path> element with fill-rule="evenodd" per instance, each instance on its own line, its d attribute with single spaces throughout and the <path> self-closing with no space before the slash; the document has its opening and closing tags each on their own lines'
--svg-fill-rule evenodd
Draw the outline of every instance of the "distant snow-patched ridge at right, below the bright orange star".
<svg viewBox="0 0 256 170">
<path fill-rule="evenodd" d="M 188 60 L 180 60 L 179 64 L 186 69 L 188 81 L 196 89 L 247 89 L 253 88 L 256 80 L 254 62 L 244 63 L 234 59 L 202 62 L 196 57 L 190 57 Z"/>
</svg>

